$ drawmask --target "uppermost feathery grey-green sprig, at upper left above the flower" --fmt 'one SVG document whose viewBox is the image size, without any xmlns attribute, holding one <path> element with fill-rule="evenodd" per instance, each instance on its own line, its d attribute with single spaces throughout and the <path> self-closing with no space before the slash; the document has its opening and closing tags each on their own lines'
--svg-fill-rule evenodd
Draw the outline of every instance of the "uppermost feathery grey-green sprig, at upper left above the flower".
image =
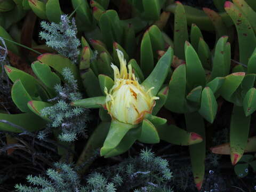
<svg viewBox="0 0 256 192">
<path fill-rule="evenodd" d="M 81 43 L 76 37 L 75 18 L 71 20 L 70 25 L 68 15 L 61 15 L 59 24 L 54 22 L 49 24 L 42 21 L 41 27 L 44 31 L 41 31 L 39 36 L 46 40 L 46 44 L 58 51 L 59 54 L 69 58 L 73 63 L 76 63 L 80 53 L 78 47 Z"/>
</svg>

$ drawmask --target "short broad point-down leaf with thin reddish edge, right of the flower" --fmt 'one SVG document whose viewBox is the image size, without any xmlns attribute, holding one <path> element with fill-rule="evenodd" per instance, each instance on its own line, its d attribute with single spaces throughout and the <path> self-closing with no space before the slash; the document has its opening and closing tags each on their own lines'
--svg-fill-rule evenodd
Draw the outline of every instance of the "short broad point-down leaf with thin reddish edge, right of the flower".
<svg viewBox="0 0 256 192">
<path fill-rule="evenodd" d="M 201 108 L 199 114 L 208 122 L 213 123 L 217 114 L 218 104 L 210 87 L 205 87 L 202 91 Z"/>
</svg>

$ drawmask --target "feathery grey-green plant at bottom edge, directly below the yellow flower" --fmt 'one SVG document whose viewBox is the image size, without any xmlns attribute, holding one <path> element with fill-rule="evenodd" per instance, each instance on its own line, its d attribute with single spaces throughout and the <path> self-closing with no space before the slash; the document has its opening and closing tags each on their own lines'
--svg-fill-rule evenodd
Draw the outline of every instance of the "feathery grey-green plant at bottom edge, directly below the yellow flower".
<svg viewBox="0 0 256 192">
<path fill-rule="evenodd" d="M 172 177 L 166 159 L 155 157 L 151 150 L 146 149 L 141 150 L 139 157 L 91 173 L 85 191 L 172 192 L 167 186 Z"/>
</svg>

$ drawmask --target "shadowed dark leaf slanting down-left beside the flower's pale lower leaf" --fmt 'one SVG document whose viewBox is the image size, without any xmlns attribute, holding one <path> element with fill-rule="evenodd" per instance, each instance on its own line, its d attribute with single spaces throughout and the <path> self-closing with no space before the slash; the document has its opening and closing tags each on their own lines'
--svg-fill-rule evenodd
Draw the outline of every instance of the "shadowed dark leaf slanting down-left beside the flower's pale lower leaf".
<svg viewBox="0 0 256 192">
<path fill-rule="evenodd" d="M 84 147 L 81 155 L 76 162 L 77 166 L 84 165 L 84 162 L 87 162 L 84 166 L 82 166 L 82 169 L 78 170 L 79 174 L 82 175 L 91 165 L 92 162 L 89 161 L 89 159 L 95 153 L 95 150 L 102 147 L 103 142 L 107 137 L 109 127 L 110 122 L 101 122 L 91 134 L 89 140 L 86 142 L 86 146 Z"/>
</svg>

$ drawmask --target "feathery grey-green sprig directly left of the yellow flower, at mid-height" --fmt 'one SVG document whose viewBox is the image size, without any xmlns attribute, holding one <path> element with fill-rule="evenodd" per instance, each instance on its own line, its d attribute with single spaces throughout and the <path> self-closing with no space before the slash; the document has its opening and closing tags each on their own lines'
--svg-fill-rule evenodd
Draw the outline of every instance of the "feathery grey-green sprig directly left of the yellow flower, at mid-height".
<svg viewBox="0 0 256 192">
<path fill-rule="evenodd" d="M 86 122 L 89 120 L 89 109 L 82 107 L 73 107 L 69 103 L 75 100 L 82 99 L 81 93 L 78 92 L 77 81 L 74 78 L 69 68 L 62 70 L 62 75 L 65 78 L 65 85 L 55 85 L 55 90 L 58 93 L 56 98 L 51 99 L 55 105 L 45 107 L 41 110 L 43 116 L 47 116 L 52 120 L 45 130 L 39 131 L 38 138 L 43 140 L 47 133 L 53 129 L 59 129 L 59 140 L 74 141 L 77 139 L 77 134 L 84 133 Z"/>
</svg>

